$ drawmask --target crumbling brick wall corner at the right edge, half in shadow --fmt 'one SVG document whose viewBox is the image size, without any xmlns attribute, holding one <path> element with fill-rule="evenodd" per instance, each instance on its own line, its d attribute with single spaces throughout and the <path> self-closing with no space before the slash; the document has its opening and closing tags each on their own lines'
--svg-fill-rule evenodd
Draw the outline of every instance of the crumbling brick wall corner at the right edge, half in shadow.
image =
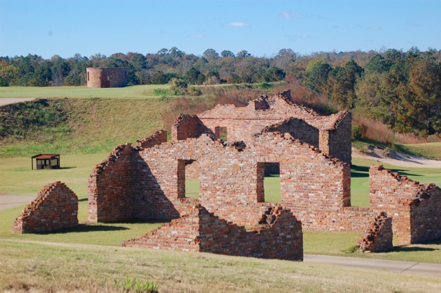
<svg viewBox="0 0 441 293">
<path fill-rule="evenodd" d="M 381 165 L 369 169 L 372 213 L 392 217 L 398 243 L 407 245 L 441 237 L 441 192 L 433 184 L 420 184 Z"/>
</svg>

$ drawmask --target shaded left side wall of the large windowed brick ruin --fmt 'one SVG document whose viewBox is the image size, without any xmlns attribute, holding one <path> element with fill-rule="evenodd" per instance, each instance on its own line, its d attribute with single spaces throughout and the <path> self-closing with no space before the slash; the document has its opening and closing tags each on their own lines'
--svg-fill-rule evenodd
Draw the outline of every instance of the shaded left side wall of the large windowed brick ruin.
<svg viewBox="0 0 441 293">
<path fill-rule="evenodd" d="M 90 175 L 89 221 L 176 219 L 175 206 L 130 144 L 117 146 Z"/>
</svg>

